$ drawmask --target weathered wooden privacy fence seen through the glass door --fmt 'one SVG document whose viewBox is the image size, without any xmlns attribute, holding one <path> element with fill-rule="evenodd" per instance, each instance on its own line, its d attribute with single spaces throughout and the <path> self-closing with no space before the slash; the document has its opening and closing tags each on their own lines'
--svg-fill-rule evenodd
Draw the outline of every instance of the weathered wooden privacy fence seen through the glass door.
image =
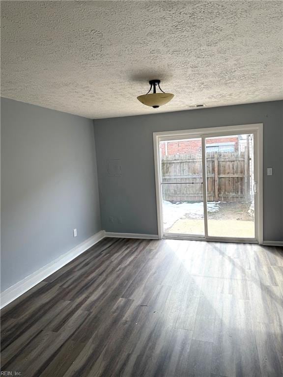
<svg viewBox="0 0 283 377">
<path fill-rule="evenodd" d="M 250 157 L 245 152 L 207 152 L 207 200 L 242 202 L 251 195 Z M 201 155 L 162 157 L 162 182 L 194 182 L 163 184 L 163 199 L 169 201 L 202 201 Z"/>
</svg>

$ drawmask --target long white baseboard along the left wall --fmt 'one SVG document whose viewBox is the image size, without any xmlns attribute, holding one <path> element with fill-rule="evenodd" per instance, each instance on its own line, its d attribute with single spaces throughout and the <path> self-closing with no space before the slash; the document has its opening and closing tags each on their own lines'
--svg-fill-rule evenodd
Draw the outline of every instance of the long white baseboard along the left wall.
<svg viewBox="0 0 283 377">
<path fill-rule="evenodd" d="M 17 297 L 23 295 L 30 288 L 40 283 L 47 276 L 56 272 L 58 269 L 65 266 L 67 263 L 71 262 L 77 256 L 79 256 L 84 251 L 89 249 L 89 247 L 93 246 L 95 243 L 99 242 L 103 238 L 105 238 L 105 231 L 101 230 L 100 232 L 91 236 L 84 242 L 75 246 L 73 249 L 69 250 L 67 253 L 61 255 L 54 261 L 48 263 L 47 265 L 43 266 L 41 269 L 38 269 L 37 271 L 33 272 L 31 275 L 28 275 L 23 280 L 18 281 L 16 284 L 6 289 L 0 295 L 0 307 L 3 308 L 7 304 L 15 300 Z"/>
</svg>

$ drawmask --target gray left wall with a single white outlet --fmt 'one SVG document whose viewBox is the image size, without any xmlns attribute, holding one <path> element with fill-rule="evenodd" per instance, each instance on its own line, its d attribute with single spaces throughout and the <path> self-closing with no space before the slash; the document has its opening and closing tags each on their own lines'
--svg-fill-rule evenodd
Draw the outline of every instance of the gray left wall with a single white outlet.
<svg viewBox="0 0 283 377">
<path fill-rule="evenodd" d="M 1 291 L 99 230 L 92 120 L 2 98 Z"/>
</svg>

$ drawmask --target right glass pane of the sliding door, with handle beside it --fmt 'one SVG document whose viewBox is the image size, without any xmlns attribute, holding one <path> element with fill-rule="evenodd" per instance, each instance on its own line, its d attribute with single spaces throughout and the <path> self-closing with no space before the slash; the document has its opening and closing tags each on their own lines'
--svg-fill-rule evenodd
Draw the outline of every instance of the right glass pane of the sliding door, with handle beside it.
<svg viewBox="0 0 283 377">
<path fill-rule="evenodd" d="M 208 236 L 255 238 L 254 135 L 205 138 Z"/>
</svg>

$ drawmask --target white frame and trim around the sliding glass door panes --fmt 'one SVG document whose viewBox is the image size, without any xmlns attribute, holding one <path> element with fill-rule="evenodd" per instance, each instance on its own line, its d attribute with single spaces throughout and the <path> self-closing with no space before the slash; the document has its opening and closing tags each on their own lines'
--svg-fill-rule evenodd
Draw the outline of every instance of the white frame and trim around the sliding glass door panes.
<svg viewBox="0 0 283 377">
<path fill-rule="evenodd" d="M 206 195 L 206 159 L 205 159 L 205 138 L 216 136 L 254 134 L 254 171 L 255 171 L 255 239 L 251 238 L 227 238 L 227 237 L 211 237 L 208 236 L 207 228 L 207 195 Z M 204 230 L 205 236 L 190 236 L 187 234 L 164 235 L 163 228 L 163 207 L 162 207 L 162 190 L 161 190 L 161 156 L 159 143 L 167 140 L 180 140 L 190 138 L 201 138 L 202 153 L 202 176 L 203 176 L 203 207 L 204 207 Z M 155 187 L 156 187 L 156 204 L 157 204 L 157 222 L 158 237 L 162 238 L 178 238 L 186 240 L 201 241 L 223 241 L 223 242 L 249 242 L 263 243 L 263 124 L 246 124 L 239 126 L 212 127 L 182 131 L 166 131 L 153 133 L 154 147 L 154 166 L 155 166 Z"/>
</svg>

